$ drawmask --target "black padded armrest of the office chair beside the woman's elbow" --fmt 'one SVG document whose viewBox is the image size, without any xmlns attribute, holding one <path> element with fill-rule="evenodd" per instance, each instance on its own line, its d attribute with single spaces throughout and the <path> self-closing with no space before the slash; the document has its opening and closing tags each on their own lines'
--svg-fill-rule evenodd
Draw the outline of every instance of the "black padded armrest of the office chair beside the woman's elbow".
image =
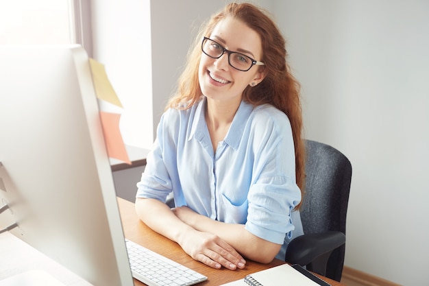
<svg viewBox="0 0 429 286">
<path fill-rule="evenodd" d="M 332 250 L 342 246 L 344 243 L 345 235 L 339 231 L 301 235 L 289 243 L 286 249 L 285 261 L 304 266 L 323 255 L 328 255 L 326 258 L 326 261 L 328 261 Z"/>
</svg>

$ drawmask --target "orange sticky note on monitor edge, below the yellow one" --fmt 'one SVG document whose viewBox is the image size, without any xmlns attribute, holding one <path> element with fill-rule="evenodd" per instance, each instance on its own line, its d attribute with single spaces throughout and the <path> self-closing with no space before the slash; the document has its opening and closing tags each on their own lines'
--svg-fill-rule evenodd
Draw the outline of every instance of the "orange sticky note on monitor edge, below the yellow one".
<svg viewBox="0 0 429 286">
<path fill-rule="evenodd" d="M 101 125 L 103 126 L 104 141 L 110 158 L 121 160 L 131 165 L 125 144 L 123 143 L 121 130 L 119 130 L 118 113 L 100 111 Z"/>
</svg>

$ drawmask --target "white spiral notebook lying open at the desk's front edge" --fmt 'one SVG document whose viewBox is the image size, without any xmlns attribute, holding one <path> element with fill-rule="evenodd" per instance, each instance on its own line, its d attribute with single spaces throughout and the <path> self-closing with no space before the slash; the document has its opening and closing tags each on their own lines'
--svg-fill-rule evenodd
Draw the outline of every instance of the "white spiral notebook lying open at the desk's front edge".
<svg viewBox="0 0 429 286">
<path fill-rule="evenodd" d="M 283 264 L 247 275 L 244 279 L 221 286 L 330 286 L 299 265 Z"/>
</svg>

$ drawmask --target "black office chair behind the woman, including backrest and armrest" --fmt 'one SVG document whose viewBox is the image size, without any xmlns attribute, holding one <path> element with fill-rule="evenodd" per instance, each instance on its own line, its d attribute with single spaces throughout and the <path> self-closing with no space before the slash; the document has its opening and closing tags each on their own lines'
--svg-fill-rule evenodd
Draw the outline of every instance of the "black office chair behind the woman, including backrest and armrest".
<svg viewBox="0 0 429 286">
<path fill-rule="evenodd" d="M 285 261 L 340 281 L 352 165 L 334 147 L 316 141 L 306 140 L 306 153 L 306 188 L 300 210 L 304 235 L 289 243 Z"/>
</svg>

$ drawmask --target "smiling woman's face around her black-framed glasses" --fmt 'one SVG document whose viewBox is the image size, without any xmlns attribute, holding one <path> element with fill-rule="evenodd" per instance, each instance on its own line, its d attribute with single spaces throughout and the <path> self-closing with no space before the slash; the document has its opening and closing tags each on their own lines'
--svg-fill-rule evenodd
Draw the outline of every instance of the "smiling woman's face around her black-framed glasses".
<svg viewBox="0 0 429 286">
<path fill-rule="evenodd" d="M 254 60 L 262 58 L 262 44 L 259 35 L 243 22 L 232 18 L 220 21 L 212 34 L 206 35 L 229 51 L 238 51 Z M 219 102 L 241 102 L 244 89 L 250 84 L 262 81 L 260 67 L 252 66 L 249 71 L 238 71 L 228 63 L 228 53 L 220 58 L 210 58 L 201 53 L 199 63 L 199 85 L 208 99 Z"/>
</svg>

